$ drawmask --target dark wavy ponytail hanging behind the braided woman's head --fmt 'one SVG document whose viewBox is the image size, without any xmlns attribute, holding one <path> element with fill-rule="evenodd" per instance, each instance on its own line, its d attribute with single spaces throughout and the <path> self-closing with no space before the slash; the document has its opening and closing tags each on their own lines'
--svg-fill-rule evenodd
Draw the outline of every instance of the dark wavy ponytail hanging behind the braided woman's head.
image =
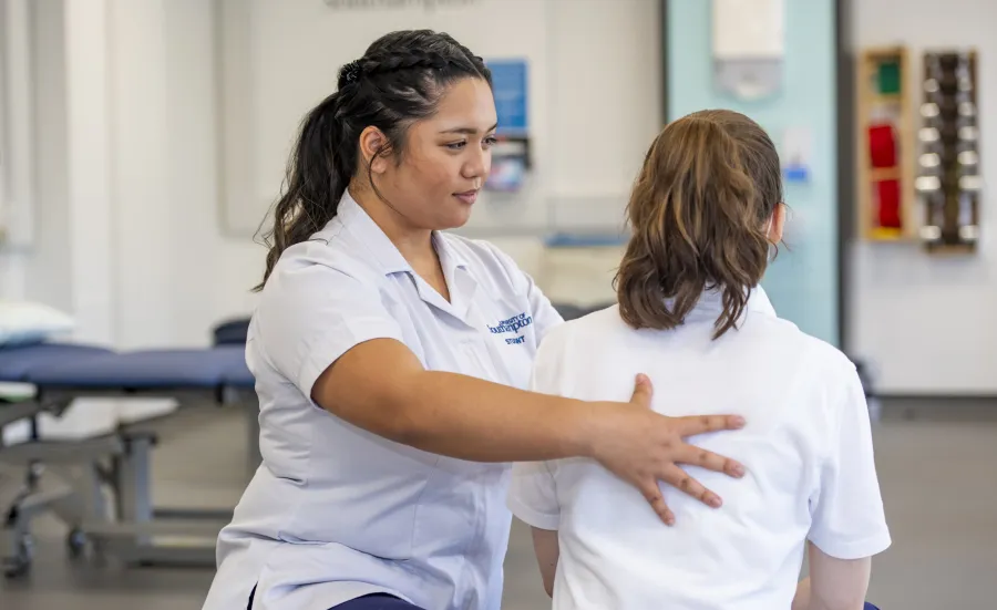
<svg viewBox="0 0 997 610">
<path fill-rule="evenodd" d="M 339 92 L 326 97 L 301 123 L 298 141 L 287 167 L 284 194 L 274 206 L 273 227 L 264 236 L 266 285 L 280 255 L 321 230 L 339 208 L 339 199 L 352 178 L 354 159 L 345 158 L 348 147 L 343 122 L 337 116 Z M 354 153 L 356 154 L 356 153 Z"/>
</svg>

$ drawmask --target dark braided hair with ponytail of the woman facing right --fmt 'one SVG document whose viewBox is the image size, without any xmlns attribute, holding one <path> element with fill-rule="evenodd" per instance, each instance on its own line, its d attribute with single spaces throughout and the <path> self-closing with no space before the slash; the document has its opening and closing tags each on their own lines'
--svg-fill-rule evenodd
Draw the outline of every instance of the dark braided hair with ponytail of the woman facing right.
<svg viewBox="0 0 997 610">
<path fill-rule="evenodd" d="M 301 123 L 284 193 L 264 236 L 269 248 L 264 279 L 255 289 L 263 289 L 284 250 L 307 240 L 336 216 L 339 199 L 359 169 L 364 128 L 372 125 L 384 134 L 388 145 L 379 156 L 393 155 L 400 162 L 412 123 L 432 116 L 446 89 L 467 77 L 492 84 L 481 58 L 449 34 L 431 30 L 386 34 L 362 58 L 343 65 L 338 91 Z M 370 176 L 369 166 L 367 170 Z"/>
</svg>

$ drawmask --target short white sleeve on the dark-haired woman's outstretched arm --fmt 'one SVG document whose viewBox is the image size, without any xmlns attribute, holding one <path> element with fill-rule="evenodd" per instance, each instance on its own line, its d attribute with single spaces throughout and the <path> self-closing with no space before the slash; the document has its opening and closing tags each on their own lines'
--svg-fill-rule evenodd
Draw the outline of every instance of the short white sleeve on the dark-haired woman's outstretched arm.
<svg viewBox="0 0 997 610">
<path fill-rule="evenodd" d="M 317 262 L 278 265 L 256 314 L 270 364 L 309 397 L 318 376 L 351 348 L 403 339 L 370 278 Z"/>
</svg>

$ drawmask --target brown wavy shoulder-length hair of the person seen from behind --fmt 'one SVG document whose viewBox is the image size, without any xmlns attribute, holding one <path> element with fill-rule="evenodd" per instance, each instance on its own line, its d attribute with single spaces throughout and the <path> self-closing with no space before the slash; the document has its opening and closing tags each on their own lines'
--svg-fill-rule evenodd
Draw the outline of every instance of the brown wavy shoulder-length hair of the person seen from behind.
<svg viewBox="0 0 997 610">
<path fill-rule="evenodd" d="M 779 154 L 754 121 L 712 110 L 666 126 L 627 205 L 633 237 L 615 279 L 624 321 L 672 329 L 719 290 L 713 337 L 734 328 L 768 266 L 765 225 L 781 203 Z"/>
</svg>

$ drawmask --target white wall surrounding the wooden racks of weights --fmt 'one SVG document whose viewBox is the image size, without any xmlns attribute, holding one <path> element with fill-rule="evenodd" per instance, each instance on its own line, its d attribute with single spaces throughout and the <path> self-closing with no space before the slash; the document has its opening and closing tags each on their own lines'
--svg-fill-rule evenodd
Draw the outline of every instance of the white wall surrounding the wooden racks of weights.
<svg viewBox="0 0 997 610">
<path fill-rule="evenodd" d="M 921 52 L 976 46 L 983 176 L 997 177 L 997 2 L 852 0 L 855 48 L 909 46 L 919 82 Z M 921 100 L 914 100 L 919 103 Z M 917 107 L 915 105 L 915 107 Z M 997 215 L 981 198 L 981 238 L 972 256 L 932 257 L 918 246 L 861 244 L 853 249 L 850 344 L 878 370 L 882 392 L 997 394 Z"/>
</svg>

